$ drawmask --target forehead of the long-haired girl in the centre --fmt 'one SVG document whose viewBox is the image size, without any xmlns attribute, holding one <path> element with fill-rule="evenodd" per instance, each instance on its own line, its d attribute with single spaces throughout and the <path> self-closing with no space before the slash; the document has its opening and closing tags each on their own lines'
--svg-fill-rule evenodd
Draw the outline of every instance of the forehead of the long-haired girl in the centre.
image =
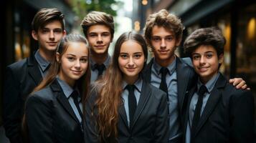
<svg viewBox="0 0 256 143">
<path fill-rule="evenodd" d="M 128 52 L 128 53 L 136 53 L 136 52 L 143 52 L 142 46 L 138 44 L 138 42 L 133 40 L 128 40 L 123 42 L 120 47 L 120 53 Z"/>
</svg>

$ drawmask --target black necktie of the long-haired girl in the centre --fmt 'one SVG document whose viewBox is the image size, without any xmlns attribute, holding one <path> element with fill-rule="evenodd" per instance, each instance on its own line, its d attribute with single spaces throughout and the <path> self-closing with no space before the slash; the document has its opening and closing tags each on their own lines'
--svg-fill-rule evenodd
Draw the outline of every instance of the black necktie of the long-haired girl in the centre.
<svg viewBox="0 0 256 143">
<path fill-rule="evenodd" d="M 137 107 L 137 101 L 136 101 L 136 97 L 134 94 L 134 89 L 136 87 L 134 85 L 127 85 L 126 89 L 128 89 L 128 106 L 129 106 L 129 116 L 130 116 L 130 126 L 131 123 L 133 122 L 133 115 L 136 111 L 136 107 Z"/>
</svg>

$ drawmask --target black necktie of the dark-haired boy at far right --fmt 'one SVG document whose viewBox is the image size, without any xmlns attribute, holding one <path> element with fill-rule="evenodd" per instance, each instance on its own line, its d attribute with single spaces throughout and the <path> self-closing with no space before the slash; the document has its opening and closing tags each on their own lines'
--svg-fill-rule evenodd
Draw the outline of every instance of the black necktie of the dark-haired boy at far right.
<svg viewBox="0 0 256 143">
<path fill-rule="evenodd" d="M 201 116 L 201 110 L 202 110 L 202 104 L 203 104 L 203 98 L 204 98 L 204 93 L 207 92 L 207 87 L 205 87 L 204 85 L 202 85 L 199 89 L 198 92 L 198 100 L 196 103 L 196 109 L 194 112 L 194 117 L 193 117 L 193 121 L 192 121 L 192 127 L 191 127 L 191 134 L 194 134 L 196 127 L 199 123 L 199 119 Z"/>
</svg>

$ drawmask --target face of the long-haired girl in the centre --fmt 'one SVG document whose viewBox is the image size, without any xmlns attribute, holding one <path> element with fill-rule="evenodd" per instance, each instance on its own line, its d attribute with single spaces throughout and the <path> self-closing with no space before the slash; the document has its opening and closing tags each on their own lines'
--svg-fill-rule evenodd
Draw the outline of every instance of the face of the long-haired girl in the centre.
<svg viewBox="0 0 256 143">
<path fill-rule="evenodd" d="M 133 40 L 123 42 L 118 56 L 118 66 L 123 73 L 125 82 L 128 84 L 136 82 L 145 61 L 146 58 L 140 44 Z"/>
</svg>

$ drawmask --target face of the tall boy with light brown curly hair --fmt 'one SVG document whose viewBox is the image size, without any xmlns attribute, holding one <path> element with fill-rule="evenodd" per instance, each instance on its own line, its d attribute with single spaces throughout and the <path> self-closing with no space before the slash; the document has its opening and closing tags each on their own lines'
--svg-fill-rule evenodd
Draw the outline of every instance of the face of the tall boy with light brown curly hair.
<svg viewBox="0 0 256 143">
<path fill-rule="evenodd" d="M 151 46 L 156 62 L 161 66 L 168 66 L 174 61 L 174 51 L 179 46 L 180 40 L 176 39 L 171 31 L 163 26 L 153 26 L 151 35 Z"/>
</svg>

